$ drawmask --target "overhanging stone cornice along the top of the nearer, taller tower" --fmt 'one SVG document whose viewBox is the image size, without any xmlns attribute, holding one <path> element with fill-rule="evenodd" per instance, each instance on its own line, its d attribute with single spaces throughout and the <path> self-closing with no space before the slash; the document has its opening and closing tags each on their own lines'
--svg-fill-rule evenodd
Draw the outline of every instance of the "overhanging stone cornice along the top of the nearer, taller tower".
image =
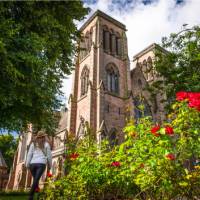
<svg viewBox="0 0 200 200">
<path fill-rule="evenodd" d="M 97 10 L 95 13 L 93 13 L 93 15 L 81 26 L 81 28 L 79 29 L 80 31 L 84 30 L 85 27 L 96 17 L 102 17 L 110 22 L 112 22 L 113 24 L 115 24 L 116 26 L 118 26 L 119 28 L 126 30 L 126 26 L 124 24 L 122 24 L 121 22 L 117 21 L 116 19 L 112 18 L 111 16 L 107 15 L 106 13 Z"/>
</svg>

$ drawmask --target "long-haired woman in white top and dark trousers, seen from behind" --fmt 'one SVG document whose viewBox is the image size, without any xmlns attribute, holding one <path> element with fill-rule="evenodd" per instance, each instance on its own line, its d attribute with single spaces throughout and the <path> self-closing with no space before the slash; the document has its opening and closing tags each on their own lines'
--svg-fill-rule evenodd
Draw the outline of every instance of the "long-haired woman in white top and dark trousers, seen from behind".
<svg viewBox="0 0 200 200">
<path fill-rule="evenodd" d="M 46 140 L 46 134 L 39 131 L 30 145 L 26 159 L 26 167 L 30 169 L 33 176 L 29 200 L 33 200 L 34 192 L 39 188 L 39 180 L 45 171 L 46 165 L 47 171 L 49 171 L 52 166 L 51 148 Z"/>
</svg>

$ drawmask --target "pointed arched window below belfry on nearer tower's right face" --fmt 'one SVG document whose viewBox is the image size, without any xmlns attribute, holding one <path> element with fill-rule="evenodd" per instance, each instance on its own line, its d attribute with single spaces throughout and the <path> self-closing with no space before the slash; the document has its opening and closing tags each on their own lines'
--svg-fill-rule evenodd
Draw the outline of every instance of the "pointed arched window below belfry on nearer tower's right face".
<svg viewBox="0 0 200 200">
<path fill-rule="evenodd" d="M 113 64 L 109 64 L 106 67 L 106 73 L 107 73 L 107 89 L 108 89 L 108 91 L 119 94 L 119 71 L 118 71 L 118 69 Z"/>
</svg>

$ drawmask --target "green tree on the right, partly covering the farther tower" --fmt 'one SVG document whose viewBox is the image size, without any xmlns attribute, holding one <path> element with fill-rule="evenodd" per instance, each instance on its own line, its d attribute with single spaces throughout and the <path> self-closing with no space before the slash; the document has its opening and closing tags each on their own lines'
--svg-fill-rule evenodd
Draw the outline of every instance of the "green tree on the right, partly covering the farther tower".
<svg viewBox="0 0 200 200">
<path fill-rule="evenodd" d="M 162 46 L 169 52 L 156 51 L 155 67 L 164 78 L 152 87 L 172 101 L 178 91 L 200 91 L 200 27 L 171 34 L 162 39 Z"/>
</svg>

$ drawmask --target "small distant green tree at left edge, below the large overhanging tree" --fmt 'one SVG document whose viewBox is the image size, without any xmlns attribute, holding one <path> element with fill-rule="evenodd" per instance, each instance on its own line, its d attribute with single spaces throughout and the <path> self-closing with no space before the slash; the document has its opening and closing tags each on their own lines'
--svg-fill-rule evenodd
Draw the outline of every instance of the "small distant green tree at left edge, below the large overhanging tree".
<svg viewBox="0 0 200 200">
<path fill-rule="evenodd" d="M 18 140 L 11 134 L 0 134 L 0 151 L 6 161 L 8 168 L 12 167 Z"/>
</svg>

